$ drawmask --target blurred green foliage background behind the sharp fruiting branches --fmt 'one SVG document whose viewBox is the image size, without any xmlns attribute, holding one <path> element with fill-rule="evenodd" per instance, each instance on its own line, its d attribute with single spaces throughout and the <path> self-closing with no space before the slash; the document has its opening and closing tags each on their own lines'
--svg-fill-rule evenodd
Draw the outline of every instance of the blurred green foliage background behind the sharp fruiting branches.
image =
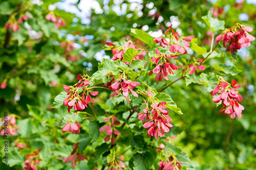
<svg viewBox="0 0 256 170">
<path fill-rule="evenodd" d="M 99 136 L 98 129 L 103 125 L 102 117 L 104 115 L 104 102 L 108 96 L 108 91 L 99 90 L 102 95 L 99 96 L 100 102 L 95 105 L 94 110 L 99 116 L 97 121 L 83 123 L 83 135 L 78 134 L 62 134 L 61 128 L 66 120 L 70 117 L 67 108 L 61 106 L 58 109 L 50 109 L 54 98 L 63 91 L 62 85 L 73 85 L 76 83 L 76 76 L 82 74 L 89 68 L 88 74 L 91 76 L 98 69 L 98 61 L 94 58 L 97 52 L 103 49 L 106 40 L 121 41 L 126 40 L 127 35 L 138 38 L 134 31 L 131 31 L 136 23 L 137 29 L 141 29 L 144 25 L 148 26 L 148 31 L 157 31 L 161 28 L 166 30 L 166 21 L 170 20 L 170 16 L 178 16 L 181 22 L 179 28 L 182 30 L 182 35 L 194 35 L 199 46 L 204 46 L 207 51 L 210 45 L 204 44 L 203 40 L 206 37 L 206 32 L 210 29 L 206 25 L 202 16 L 207 15 L 211 7 L 228 8 L 219 15 L 220 20 L 225 21 L 225 28 L 232 27 L 236 22 L 253 28 L 251 35 L 256 36 L 256 6 L 244 2 L 242 8 L 236 8 L 235 1 L 217 1 L 211 3 L 208 1 L 143 1 L 141 12 L 138 10 L 130 11 L 131 3 L 123 1 L 122 4 L 127 4 L 127 10 L 122 15 L 117 15 L 113 11 L 116 5 L 112 0 L 109 1 L 108 9 L 104 9 L 103 13 L 96 14 L 94 10 L 91 13 L 91 23 L 83 25 L 81 19 L 75 14 L 67 13 L 66 11 L 56 9 L 55 15 L 60 15 L 66 22 L 67 27 L 54 28 L 54 23 L 45 19 L 49 13 L 48 6 L 58 1 L 43 1 L 40 6 L 33 5 L 31 1 L 1 1 L 0 3 L 0 82 L 7 82 L 5 89 L 0 89 L 0 112 L 4 115 L 5 111 L 9 114 L 17 114 L 22 119 L 17 120 L 19 127 L 18 133 L 20 136 L 11 136 L 9 139 L 9 164 L 6 168 L 1 163 L 1 169 L 22 169 L 25 161 L 25 156 L 30 152 L 42 148 L 40 167 L 44 169 L 70 169 L 70 163 L 65 164 L 59 160 L 59 157 L 67 157 L 72 151 L 72 145 L 76 139 L 82 140 L 84 152 L 86 156 L 91 156 L 88 161 L 81 161 L 76 167 L 77 169 L 93 169 L 94 166 L 101 167 L 106 163 L 106 155 L 111 154 L 111 150 L 102 144 L 102 137 Z M 99 1 L 101 8 L 103 2 Z M 152 9 L 146 7 L 147 4 L 154 3 L 154 9 L 163 17 L 162 21 L 158 21 L 156 17 L 152 17 L 148 12 Z M 78 6 L 80 1 L 74 4 Z M 19 5 L 23 7 L 19 9 Z M 121 5 L 120 4 L 120 7 Z M 4 29 L 9 16 L 15 12 L 30 13 L 33 17 L 27 21 L 31 28 L 37 32 L 42 32 L 40 39 L 33 39 L 28 34 L 28 30 L 24 23 L 20 25 L 20 30 L 9 33 Z M 249 16 L 247 21 L 240 21 L 239 15 L 246 13 Z M 127 17 L 131 14 L 131 17 Z M 129 15 L 128 15 L 129 16 Z M 18 17 L 18 16 L 16 16 Z M 78 21 L 74 22 L 76 18 Z M 17 18 L 16 18 L 17 19 Z M 115 28 L 113 29 L 111 28 Z M 219 35 L 221 31 L 215 33 Z M 10 34 L 10 42 L 6 44 L 7 35 Z M 81 52 L 86 52 L 86 57 L 80 57 L 77 61 L 67 61 L 63 58 L 65 49 L 58 44 L 66 40 L 68 34 L 75 36 L 75 42 L 81 44 L 80 49 L 72 50 L 71 54 L 79 56 Z M 90 36 L 89 36 L 90 35 Z M 80 37 L 88 38 L 87 43 L 81 41 Z M 93 37 L 93 38 L 90 38 Z M 151 43 L 150 40 L 146 40 Z M 154 42 L 152 42 L 154 43 Z M 180 80 L 165 89 L 164 92 L 172 96 L 177 106 L 181 108 L 183 115 L 172 112 L 172 123 L 183 129 L 183 132 L 172 139 L 172 142 L 181 148 L 191 159 L 191 164 L 196 169 L 255 169 L 256 168 L 256 115 L 255 115 L 255 41 L 250 47 L 246 48 L 246 53 L 233 53 L 227 56 L 228 53 L 221 55 L 223 47 L 218 47 L 218 52 L 209 61 L 206 62 L 206 71 L 214 70 L 214 65 L 225 64 L 231 59 L 231 62 L 242 70 L 239 74 L 224 74 L 222 71 L 218 73 L 223 75 L 228 82 L 235 79 L 242 87 L 239 89 L 243 97 L 241 104 L 245 107 L 242 118 L 236 118 L 235 122 L 227 116 L 220 115 L 220 108 L 213 103 L 212 96 L 207 91 L 206 85 L 203 85 L 198 80 Z M 148 44 L 150 45 L 150 44 Z M 105 51 L 106 55 L 112 57 L 111 51 Z M 185 60 L 191 55 L 182 55 Z M 194 53 L 192 56 L 197 57 Z M 219 56 L 219 57 L 216 57 Z M 216 68 L 215 68 L 216 69 Z M 217 70 L 218 71 L 218 70 Z M 199 75 L 199 72 L 196 72 Z M 234 76 L 235 75 L 235 76 Z M 167 84 L 176 80 L 177 77 L 170 77 Z M 56 81 L 57 86 L 51 86 L 49 83 Z M 196 83 L 195 83 L 196 82 Z M 149 85 L 155 89 L 162 89 L 166 82 L 155 83 L 154 79 L 149 81 Z M 189 84 L 189 86 L 186 86 Z M 134 106 L 136 102 L 134 102 Z M 108 109 L 108 108 L 106 108 Z M 86 110 L 92 112 L 90 108 Z M 120 118 L 127 117 L 129 113 L 123 110 L 119 113 Z M 3 117 L 3 116 L 1 116 Z M 137 115 L 133 115 L 130 120 L 131 124 L 135 125 Z M 230 140 L 227 144 L 227 149 L 223 148 L 230 127 L 234 123 Z M 139 126 L 138 126 L 139 127 Z M 142 134 L 144 128 L 134 130 L 137 135 Z M 121 133 L 132 133 L 132 131 L 121 131 Z M 173 132 L 176 132 L 173 130 Z M 178 132 L 177 132 L 178 134 Z M 89 137 L 88 137 L 89 136 Z M 132 136 L 132 137 L 131 137 Z M 125 160 L 130 164 L 134 164 L 134 169 L 139 168 L 139 159 L 143 156 L 148 156 L 148 161 L 155 160 L 155 150 L 148 149 L 142 152 L 144 141 L 141 143 L 140 138 L 134 138 L 133 134 L 128 139 L 120 139 L 118 142 L 128 146 L 133 142 L 133 147 L 138 153 L 130 152 L 133 160 Z M 135 135 L 136 136 L 136 135 Z M 100 138 L 98 138 L 100 137 Z M 24 140 L 30 147 L 23 149 L 22 152 L 14 148 L 13 141 L 16 138 Z M 143 138 L 143 137 L 142 137 Z M 3 137 L 0 137 L 3 139 Z M 90 141 L 89 141 L 90 140 Z M 144 140 L 144 139 L 143 139 Z M 2 140 L 1 140 L 2 141 Z M 94 142 L 92 145 L 89 143 Z M 125 143 L 126 142 L 126 143 Z M 150 139 L 146 142 L 151 142 Z M 88 146 L 87 146 L 88 145 Z M 1 147 L 2 148 L 2 147 Z M 107 148 L 107 149 L 106 149 Z M 102 156 L 103 154 L 103 156 Z M 4 155 L 3 148 L 1 149 L 1 157 Z M 153 157 L 153 156 L 154 157 Z M 129 157 L 129 156 L 127 156 Z M 159 158 L 157 158 L 159 159 Z M 160 161 L 160 160 L 158 160 Z M 157 169 L 158 161 L 154 162 L 152 169 Z M 131 165 L 132 166 L 132 165 Z M 143 165 L 143 167 L 147 165 Z"/>
</svg>

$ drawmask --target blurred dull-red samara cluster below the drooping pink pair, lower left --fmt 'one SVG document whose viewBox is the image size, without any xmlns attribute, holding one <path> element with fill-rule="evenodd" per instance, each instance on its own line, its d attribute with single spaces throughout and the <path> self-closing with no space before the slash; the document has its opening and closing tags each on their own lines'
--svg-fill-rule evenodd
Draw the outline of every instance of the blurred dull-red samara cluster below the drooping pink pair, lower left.
<svg viewBox="0 0 256 170">
<path fill-rule="evenodd" d="M 70 156 L 68 156 L 67 158 L 63 159 L 62 162 L 70 162 L 71 161 L 71 166 L 73 168 L 76 167 L 76 162 L 78 161 L 78 163 L 80 163 L 80 161 L 86 159 L 87 158 L 85 156 L 83 156 L 82 154 L 80 154 L 80 150 L 78 148 L 78 143 L 75 143 L 73 145 L 74 150 L 71 152 Z"/>
</svg>

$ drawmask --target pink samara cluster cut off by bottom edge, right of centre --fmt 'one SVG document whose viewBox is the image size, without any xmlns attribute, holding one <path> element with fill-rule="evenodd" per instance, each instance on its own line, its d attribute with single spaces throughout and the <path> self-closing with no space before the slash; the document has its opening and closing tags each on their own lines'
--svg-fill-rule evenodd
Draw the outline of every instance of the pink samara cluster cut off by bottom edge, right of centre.
<svg viewBox="0 0 256 170">
<path fill-rule="evenodd" d="M 164 160 L 164 161 L 160 161 L 158 163 L 159 168 L 158 170 L 180 170 L 181 169 L 181 162 L 174 160 L 174 158 L 171 156 L 169 159 Z"/>
</svg>

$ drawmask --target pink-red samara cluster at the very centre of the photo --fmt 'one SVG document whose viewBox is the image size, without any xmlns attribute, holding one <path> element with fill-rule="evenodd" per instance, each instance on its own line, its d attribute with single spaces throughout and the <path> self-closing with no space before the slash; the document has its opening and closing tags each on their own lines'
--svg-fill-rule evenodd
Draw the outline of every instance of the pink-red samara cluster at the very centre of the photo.
<svg viewBox="0 0 256 170">
<path fill-rule="evenodd" d="M 140 85 L 139 82 L 125 80 L 120 75 L 119 75 L 119 79 L 115 80 L 115 78 L 113 78 L 111 82 L 105 83 L 106 87 L 109 87 L 111 91 L 115 92 L 112 95 L 110 95 L 110 98 L 113 98 L 115 95 L 118 95 L 119 92 L 121 92 L 128 103 L 129 103 L 129 96 L 128 96 L 129 92 L 131 92 L 133 96 L 138 97 L 138 94 L 135 91 L 133 91 L 133 88 L 138 85 Z"/>
</svg>

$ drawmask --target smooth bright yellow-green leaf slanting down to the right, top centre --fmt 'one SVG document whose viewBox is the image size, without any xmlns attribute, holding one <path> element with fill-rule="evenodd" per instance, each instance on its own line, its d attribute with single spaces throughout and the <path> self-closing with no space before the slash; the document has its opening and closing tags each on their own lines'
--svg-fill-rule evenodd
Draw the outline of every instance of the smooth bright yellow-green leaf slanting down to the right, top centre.
<svg viewBox="0 0 256 170">
<path fill-rule="evenodd" d="M 152 37 L 151 35 L 147 34 L 142 30 L 131 29 L 130 35 L 137 39 L 140 39 L 142 42 L 146 43 L 147 45 L 150 45 L 151 47 L 156 45 L 154 37 Z"/>
</svg>

